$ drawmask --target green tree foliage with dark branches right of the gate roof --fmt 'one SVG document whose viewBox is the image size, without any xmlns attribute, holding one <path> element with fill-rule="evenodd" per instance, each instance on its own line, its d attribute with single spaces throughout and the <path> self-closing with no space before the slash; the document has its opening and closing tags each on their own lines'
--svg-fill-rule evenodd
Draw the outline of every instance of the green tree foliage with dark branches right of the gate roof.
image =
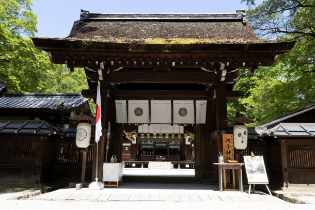
<svg viewBox="0 0 315 210">
<path fill-rule="evenodd" d="M 254 0 L 242 0 L 254 5 Z M 246 113 L 261 125 L 315 103 L 315 0 L 265 0 L 248 12 L 257 36 L 296 40 L 276 65 L 260 66 L 256 76 L 240 70 L 234 90 L 244 97 L 228 104 L 229 117 Z"/>
</svg>

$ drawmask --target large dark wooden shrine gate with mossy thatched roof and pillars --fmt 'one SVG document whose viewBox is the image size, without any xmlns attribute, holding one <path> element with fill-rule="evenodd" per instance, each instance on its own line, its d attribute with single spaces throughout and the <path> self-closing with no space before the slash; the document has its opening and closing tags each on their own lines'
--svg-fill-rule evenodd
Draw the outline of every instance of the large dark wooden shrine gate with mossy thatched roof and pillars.
<svg viewBox="0 0 315 210">
<path fill-rule="evenodd" d="M 37 49 L 48 52 L 52 63 L 67 65 L 70 74 L 75 67 L 85 69 L 90 90 L 82 90 L 82 96 L 95 99 L 100 81 L 103 136 L 98 143 L 98 168 L 105 162 L 108 122 L 112 133 L 108 157 L 117 155 L 118 162 L 122 161 L 123 124 L 116 123 L 115 99 L 202 99 L 207 101 L 206 123 L 194 129 L 195 175 L 218 178 L 212 162 L 217 162 L 217 151 L 222 151 L 221 131 L 228 129 L 226 104 L 242 96 L 233 91 L 238 69 L 255 74 L 258 66 L 274 65 L 278 55 L 291 51 L 295 44 L 258 39 L 240 10 L 142 16 L 82 10 L 80 16 L 69 37 L 32 41 Z M 208 41 L 200 41 L 201 36 Z M 153 42 L 152 37 L 159 41 Z M 95 177 L 94 161 L 92 180 Z M 97 177 L 102 177 L 102 170 Z"/>
</svg>

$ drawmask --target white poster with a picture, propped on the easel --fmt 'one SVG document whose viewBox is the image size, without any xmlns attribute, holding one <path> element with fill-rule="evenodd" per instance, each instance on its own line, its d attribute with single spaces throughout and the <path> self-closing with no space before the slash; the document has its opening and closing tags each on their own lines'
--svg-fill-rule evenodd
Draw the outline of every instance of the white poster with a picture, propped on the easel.
<svg viewBox="0 0 315 210">
<path fill-rule="evenodd" d="M 248 183 L 268 183 L 263 156 L 244 156 Z"/>
</svg>

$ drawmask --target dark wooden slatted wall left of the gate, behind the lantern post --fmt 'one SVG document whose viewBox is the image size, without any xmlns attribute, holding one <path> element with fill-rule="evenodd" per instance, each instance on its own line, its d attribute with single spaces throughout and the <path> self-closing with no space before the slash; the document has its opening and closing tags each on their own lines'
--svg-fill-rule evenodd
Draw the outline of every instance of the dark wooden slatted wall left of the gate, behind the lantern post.
<svg viewBox="0 0 315 210">
<path fill-rule="evenodd" d="M 92 180 L 93 144 L 91 142 L 87 152 L 86 181 Z M 82 156 L 74 138 L 1 135 L 0 182 L 79 182 Z"/>
</svg>

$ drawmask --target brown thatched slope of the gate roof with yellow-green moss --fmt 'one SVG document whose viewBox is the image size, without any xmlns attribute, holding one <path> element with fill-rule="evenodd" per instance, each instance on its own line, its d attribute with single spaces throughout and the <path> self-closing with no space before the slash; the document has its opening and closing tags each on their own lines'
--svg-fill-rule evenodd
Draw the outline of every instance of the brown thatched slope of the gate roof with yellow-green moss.
<svg viewBox="0 0 315 210">
<path fill-rule="evenodd" d="M 250 22 L 75 21 L 66 40 L 149 44 L 262 43 Z"/>
</svg>

